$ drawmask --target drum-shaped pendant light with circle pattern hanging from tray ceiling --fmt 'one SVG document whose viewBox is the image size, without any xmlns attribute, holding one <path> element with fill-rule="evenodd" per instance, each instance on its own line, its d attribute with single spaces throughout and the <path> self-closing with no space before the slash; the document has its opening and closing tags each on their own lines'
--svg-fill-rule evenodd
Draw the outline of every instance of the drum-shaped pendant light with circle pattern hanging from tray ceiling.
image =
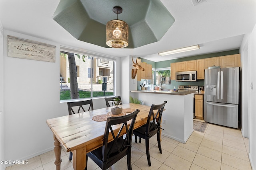
<svg viewBox="0 0 256 170">
<path fill-rule="evenodd" d="M 116 20 L 108 21 L 106 24 L 106 44 L 112 48 L 124 48 L 128 46 L 128 24 L 118 20 L 118 14 L 122 13 L 120 6 L 115 6 L 113 12 L 117 14 Z"/>
</svg>

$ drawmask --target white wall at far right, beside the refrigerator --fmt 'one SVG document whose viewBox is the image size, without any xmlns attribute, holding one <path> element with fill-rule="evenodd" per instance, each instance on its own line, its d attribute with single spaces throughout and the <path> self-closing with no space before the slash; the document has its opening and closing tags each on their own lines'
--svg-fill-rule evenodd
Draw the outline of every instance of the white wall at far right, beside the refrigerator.
<svg viewBox="0 0 256 170">
<path fill-rule="evenodd" d="M 248 122 L 248 137 L 249 137 L 249 158 L 253 170 L 256 170 L 256 25 L 252 33 L 244 36 L 240 51 L 242 52 L 242 72 L 244 78 L 242 79 L 242 133 L 246 135 L 246 128 L 244 125 Z M 247 55 L 247 56 L 246 56 Z M 248 57 L 248 58 L 246 58 Z M 249 75 L 244 75 L 249 74 Z M 251 87 L 251 83 L 254 87 Z M 247 102 L 247 103 L 246 103 Z M 248 114 L 246 113 L 248 112 Z M 243 125 L 244 124 L 244 125 Z"/>
</svg>

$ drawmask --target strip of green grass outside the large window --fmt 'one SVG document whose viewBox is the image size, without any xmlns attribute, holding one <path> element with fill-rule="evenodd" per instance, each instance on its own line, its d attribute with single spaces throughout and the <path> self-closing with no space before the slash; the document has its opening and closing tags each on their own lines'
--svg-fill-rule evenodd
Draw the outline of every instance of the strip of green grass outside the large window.
<svg viewBox="0 0 256 170">
<path fill-rule="evenodd" d="M 97 96 L 103 96 L 103 92 L 93 92 L 92 96 L 97 97 Z M 105 92 L 105 96 L 113 96 L 114 92 Z M 79 91 L 79 98 L 90 98 L 91 97 L 91 92 L 84 92 L 84 91 Z M 61 91 L 60 92 L 60 100 L 69 100 L 71 99 L 70 97 L 70 90 L 66 91 Z"/>
</svg>

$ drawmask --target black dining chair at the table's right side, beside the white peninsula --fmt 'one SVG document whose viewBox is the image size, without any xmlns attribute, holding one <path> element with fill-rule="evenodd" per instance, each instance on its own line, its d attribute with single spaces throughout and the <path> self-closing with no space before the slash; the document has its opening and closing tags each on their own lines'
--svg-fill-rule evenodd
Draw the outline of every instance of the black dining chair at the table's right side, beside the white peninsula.
<svg viewBox="0 0 256 170">
<path fill-rule="evenodd" d="M 148 159 L 148 165 L 151 166 L 150 162 L 150 154 L 149 154 L 149 139 L 157 134 L 157 143 L 158 143 L 158 149 L 160 153 L 162 154 L 162 148 L 161 148 L 161 141 L 160 141 L 160 129 L 161 128 L 161 119 L 162 119 L 162 113 L 164 110 L 164 106 L 167 103 L 167 101 L 164 101 L 164 103 L 159 105 L 152 104 L 149 114 L 148 114 L 148 120 L 145 125 L 142 125 L 141 127 L 134 129 L 133 134 L 135 135 L 135 143 L 137 143 L 137 136 L 140 137 L 140 143 L 141 138 L 145 139 L 146 143 L 146 154 Z M 154 112 L 155 110 L 155 112 Z M 157 110 L 157 111 L 156 111 Z"/>
</svg>

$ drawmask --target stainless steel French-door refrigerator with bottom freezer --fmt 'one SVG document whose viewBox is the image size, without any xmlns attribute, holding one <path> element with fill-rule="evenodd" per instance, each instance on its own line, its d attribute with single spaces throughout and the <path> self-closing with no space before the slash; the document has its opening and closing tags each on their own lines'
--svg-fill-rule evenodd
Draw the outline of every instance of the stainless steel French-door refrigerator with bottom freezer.
<svg viewBox="0 0 256 170">
<path fill-rule="evenodd" d="M 205 70 L 204 121 L 238 128 L 239 67 Z"/>
</svg>

